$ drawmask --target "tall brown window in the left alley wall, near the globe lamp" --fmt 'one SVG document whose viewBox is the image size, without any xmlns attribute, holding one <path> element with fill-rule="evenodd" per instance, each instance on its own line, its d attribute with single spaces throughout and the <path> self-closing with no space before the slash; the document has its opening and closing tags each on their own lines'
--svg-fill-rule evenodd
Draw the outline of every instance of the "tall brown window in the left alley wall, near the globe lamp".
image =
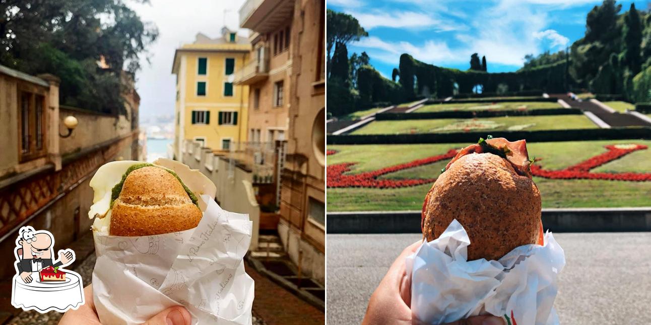
<svg viewBox="0 0 651 325">
<path fill-rule="evenodd" d="M 19 125 L 20 125 L 20 160 L 38 158 L 45 154 L 45 96 L 33 92 L 21 91 Z"/>
</svg>

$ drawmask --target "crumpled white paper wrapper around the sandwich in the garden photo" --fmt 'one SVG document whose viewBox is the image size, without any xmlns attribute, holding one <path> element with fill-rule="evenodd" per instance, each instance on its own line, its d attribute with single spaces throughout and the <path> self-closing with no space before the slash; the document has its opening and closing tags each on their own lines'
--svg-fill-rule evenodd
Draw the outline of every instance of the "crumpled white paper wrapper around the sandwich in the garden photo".
<svg viewBox="0 0 651 325">
<path fill-rule="evenodd" d="M 427 324 L 486 314 L 508 318 L 505 324 L 559 324 L 553 303 L 565 254 L 551 233 L 544 243 L 516 247 L 499 261 L 466 261 L 470 239 L 453 220 L 406 259 L 413 316 Z"/>
</svg>

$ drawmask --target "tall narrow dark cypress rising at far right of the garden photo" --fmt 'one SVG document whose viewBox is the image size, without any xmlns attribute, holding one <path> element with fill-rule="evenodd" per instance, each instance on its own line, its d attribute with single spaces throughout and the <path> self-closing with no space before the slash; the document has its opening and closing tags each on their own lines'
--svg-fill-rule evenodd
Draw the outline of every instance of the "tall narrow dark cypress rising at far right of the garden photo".
<svg viewBox="0 0 651 325">
<path fill-rule="evenodd" d="M 622 55 L 624 57 L 624 64 L 626 64 L 626 67 L 631 71 L 633 76 L 640 72 L 642 65 L 642 27 L 640 15 L 635 10 L 635 3 L 631 3 L 631 8 L 624 18 L 624 27 L 622 28 L 624 34 Z"/>
</svg>

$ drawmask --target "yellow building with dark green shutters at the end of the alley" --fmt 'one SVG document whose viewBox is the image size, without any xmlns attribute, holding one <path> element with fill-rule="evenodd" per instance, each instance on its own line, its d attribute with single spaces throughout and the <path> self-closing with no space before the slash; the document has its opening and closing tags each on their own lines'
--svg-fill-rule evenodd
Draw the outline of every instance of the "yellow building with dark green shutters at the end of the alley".
<svg viewBox="0 0 651 325">
<path fill-rule="evenodd" d="M 219 38 L 199 33 L 195 42 L 176 49 L 174 158 L 182 160 L 186 139 L 215 152 L 247 140 L 249 87 L 234 85 L 233 79 L 250 51 L 247 38 L 227 28 Z"/>
</svg>

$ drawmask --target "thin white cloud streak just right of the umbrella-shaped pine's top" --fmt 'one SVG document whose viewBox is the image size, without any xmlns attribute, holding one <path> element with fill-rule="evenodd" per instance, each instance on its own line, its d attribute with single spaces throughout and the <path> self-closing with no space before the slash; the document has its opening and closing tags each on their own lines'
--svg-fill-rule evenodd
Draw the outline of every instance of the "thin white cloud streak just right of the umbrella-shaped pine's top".
<svg viewBox="0 0 651 325">
<path fill-rule="evenodd" d="M 433 18 L 423 12 L 349 12 L 357 18 L 359 24 L 367 30 L 376 27 L 392 27 L 402 29 L 435 29 L 436 31 L 452 31 L 462 29 L 463 24 L 451 23 Z"/>
</svg>

